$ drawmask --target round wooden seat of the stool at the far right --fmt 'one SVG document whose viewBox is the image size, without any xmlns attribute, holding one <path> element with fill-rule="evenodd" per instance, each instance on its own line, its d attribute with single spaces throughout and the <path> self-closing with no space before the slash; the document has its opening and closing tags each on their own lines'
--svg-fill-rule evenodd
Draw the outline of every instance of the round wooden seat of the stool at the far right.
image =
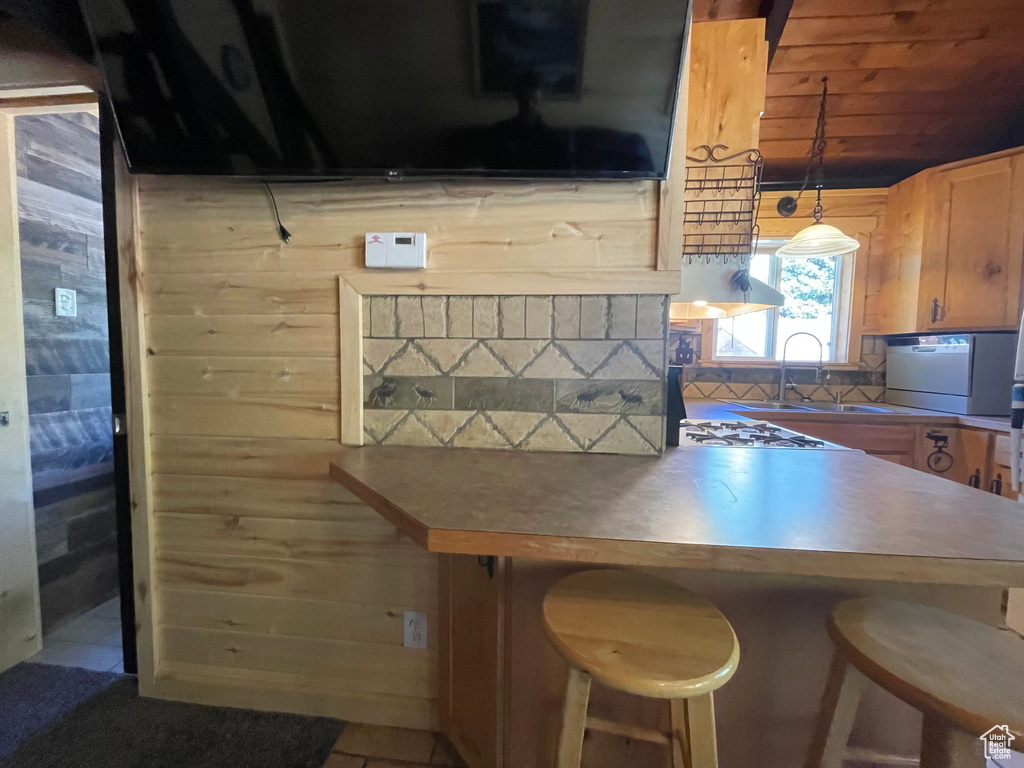
<svg viewBox="0 0 1024 768">
<path fill-rule="evenodd" d="M 1024 639 L 925 605 L 840 603 L 828 634 L 850 664 L 911 707 L 978 736 L 1006 725 L 1024 744 Z"/>
</svg>

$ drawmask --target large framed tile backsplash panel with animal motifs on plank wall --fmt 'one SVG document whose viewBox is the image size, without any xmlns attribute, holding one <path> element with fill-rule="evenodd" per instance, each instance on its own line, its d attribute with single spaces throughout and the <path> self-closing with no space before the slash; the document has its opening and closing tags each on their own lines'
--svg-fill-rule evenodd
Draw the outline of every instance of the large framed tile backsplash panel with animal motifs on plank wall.
<svg viewBox="0 0 1024 768">
<path fill-rule="evenodd" d="M 658 455 L 668 297 L 364 297 L 367 440 Z"/>
</svg>

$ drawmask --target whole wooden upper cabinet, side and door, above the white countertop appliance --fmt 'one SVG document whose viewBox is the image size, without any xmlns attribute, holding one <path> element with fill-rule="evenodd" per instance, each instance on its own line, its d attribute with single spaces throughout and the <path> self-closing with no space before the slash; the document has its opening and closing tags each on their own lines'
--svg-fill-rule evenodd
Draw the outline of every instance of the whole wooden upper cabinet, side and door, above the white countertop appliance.
<svg viewBox="0 0 1024 768">
<path fill-rule="evenodd" d="M 880 333 L 1013 329 L 1024 265 L 1024 148 L 889 190 Z"/>
</svg>

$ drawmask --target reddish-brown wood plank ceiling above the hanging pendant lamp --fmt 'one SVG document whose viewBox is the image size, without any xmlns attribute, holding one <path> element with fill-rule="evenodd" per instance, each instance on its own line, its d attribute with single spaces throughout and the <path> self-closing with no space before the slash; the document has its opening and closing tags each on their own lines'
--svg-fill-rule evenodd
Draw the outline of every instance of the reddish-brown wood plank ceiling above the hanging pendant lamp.
<svg viewBox="0 0 1024 768">
<path fill-rule="evenodd" d="M 742 6 L 705 0 L 694 20 Z M 793 0 L 768 72 L 766 181 L 803 179 L 822 76 L 829 186 L 1019 144 L 1024 0 Z"/>
</svg>

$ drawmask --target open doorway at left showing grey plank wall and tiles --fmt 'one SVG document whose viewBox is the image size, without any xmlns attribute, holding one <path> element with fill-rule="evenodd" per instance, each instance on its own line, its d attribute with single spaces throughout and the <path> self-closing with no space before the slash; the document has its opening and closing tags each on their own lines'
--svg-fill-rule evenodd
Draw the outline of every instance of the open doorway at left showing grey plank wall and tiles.
<svg viewBox="0 0 1024 768">
<path fill-rule="evenodd" d="M 99 111 L 94 94 L 80 94 L 19 104 L 0 117 L 9 156 L 3 185 L 10 189 L 16 220 L 7 240 L 16 248 L 20 272 L 10 293 L 20 304 L 23 344 L 17 355 L 7 348 L 16 342 L 5 337 L 0 352 L 24 360 L 24 411 L 15 408 L 9 419 L 29 435 L 31 537 L 23 524 L 19 556 L 24 561 L 24 549 L 33 550 L 35 615 L 23 624 L 35 624 L 38 633 L 35 644 L 23 643 L 20 654 L 0 657 L 0 670 L 20 655 L 42 664 L 134 672 L 134 618 L 122 616 L 120 595 L 121 584 L 131 580 L 130 530 L 119 530 L 127 510 L 119 514 L 118 500 L 126 494 L 119 493 L 124 489 L 117 477 L 122 475 L 122 483 L 127 478 L 116 472 L 112 398 L 117 399 L 119 383 L 123 391 L 123 380 L 119 359 L 112 378 L 120 324 L 116 306 L 114 316 L 108 311 L 117 286 L 108 278 Z M 22 579 L 33 581 L 24 572 Z M 124 597 L 131 613 L 131 594 Z"/>
</svg>

